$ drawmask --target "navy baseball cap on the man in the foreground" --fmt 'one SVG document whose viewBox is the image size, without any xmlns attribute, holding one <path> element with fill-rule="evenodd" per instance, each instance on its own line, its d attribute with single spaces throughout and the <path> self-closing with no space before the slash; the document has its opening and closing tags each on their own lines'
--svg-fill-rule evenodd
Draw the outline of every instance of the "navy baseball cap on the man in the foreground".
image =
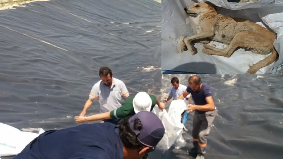
<svg viewBox="0 0 283 159">
<path fill-rule="evenodd" d="M 134 130 L 135 119 L 140 119 L 141 130 Z M 164 136 L 165 128 L 158 116 L 153 112 L 140 111 L 130 117 L 128 122 L 138 140 L 145 146 L 155 148 Z"/>
</svg>

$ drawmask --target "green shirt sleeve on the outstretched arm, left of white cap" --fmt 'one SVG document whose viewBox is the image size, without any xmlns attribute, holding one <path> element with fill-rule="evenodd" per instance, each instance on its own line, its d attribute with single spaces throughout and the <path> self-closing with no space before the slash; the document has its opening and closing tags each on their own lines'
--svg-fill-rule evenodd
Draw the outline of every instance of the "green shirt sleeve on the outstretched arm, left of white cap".
<svg viewBox="0 0 283 159">
<path fill-rule="evenodd" d="M 133 107 L 134 97 L 128 98 L 121 107 L 110 112 L 111 119 L 121 119 L 135 114 Z"/>
</svg>

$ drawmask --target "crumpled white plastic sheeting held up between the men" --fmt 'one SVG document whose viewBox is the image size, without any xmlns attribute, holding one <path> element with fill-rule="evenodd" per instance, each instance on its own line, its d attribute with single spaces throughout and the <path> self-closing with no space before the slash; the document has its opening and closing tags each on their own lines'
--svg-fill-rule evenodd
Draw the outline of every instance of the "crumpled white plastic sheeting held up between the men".
<svg viewBox="0 0 283 159">
<path fill-rule="evenodd" d="M 166 151 L 174 144 L 175 149 L 180 149 L 186 145 L 186 142 L 182 136 L 184 125 L 181 123 L 181 114 L 186 110 L 187 101 L 173 100 L 170 104 L 168 112 L 163 111 L 155 106 L 153 111 L 162 121 L 165 134 L 160 140 L 157 149 Z"/>
</svg>

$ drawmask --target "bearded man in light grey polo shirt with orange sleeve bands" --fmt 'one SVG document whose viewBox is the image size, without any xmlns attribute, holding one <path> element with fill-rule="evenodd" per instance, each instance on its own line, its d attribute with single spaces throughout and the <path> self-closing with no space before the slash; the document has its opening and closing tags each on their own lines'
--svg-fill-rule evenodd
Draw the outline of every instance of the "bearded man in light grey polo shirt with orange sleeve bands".
<svg viewBox="0 0 283 159">
<path fill-rule="evenodd" d="M 130 96 L 125 83 L 114 78 L 110 68 L 101 67 L 99 69 L 99 76 L 101 80 L 93 85 L 89 93 L 89 99 L 85 102 L 80 116 L 85 115 L 96 98 L 99 98 L 100 113 L 105 113 L 119 108 L 123 103 L 122 98 L 126 100 Z M 113 121 L 109 122 L 113 123 Z"/>
</svg>

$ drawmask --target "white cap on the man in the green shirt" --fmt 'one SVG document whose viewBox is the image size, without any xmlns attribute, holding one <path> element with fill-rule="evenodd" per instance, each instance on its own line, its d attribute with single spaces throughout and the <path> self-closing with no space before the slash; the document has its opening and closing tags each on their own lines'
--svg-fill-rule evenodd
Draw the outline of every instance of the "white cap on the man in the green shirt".
<svg viewBox="0 0 283 159">
<path fill-rule="evenodd" d="M 134 111 L 137 114 L 140 111 L 150 112 L 152 100 L 146 92 L 139 92 L 133 100 Z"/>
</svg>

